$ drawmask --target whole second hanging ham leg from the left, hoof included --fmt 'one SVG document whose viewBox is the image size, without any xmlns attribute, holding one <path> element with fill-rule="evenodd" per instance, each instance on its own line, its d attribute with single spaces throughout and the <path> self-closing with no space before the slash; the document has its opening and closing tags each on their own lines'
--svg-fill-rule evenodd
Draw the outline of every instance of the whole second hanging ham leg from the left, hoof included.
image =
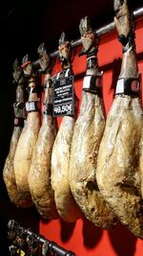
<svg viewBox="0 0 143 256">
<path fill-rule="evenodd" d="M 29 102 L 26 103 L 26 110 L 28 112 L 27 122 L 20 135 L 14 155 L 14 174 L 19 193 L 23 194 L 24 198 L 31 199 L 28 174 L 31 167 L 32 151 L 40 129 L 41 118 L 35 76 L 28 55 L 23 58 L 22 67 L 25 76 L 28 78 Z"/>
</svg>

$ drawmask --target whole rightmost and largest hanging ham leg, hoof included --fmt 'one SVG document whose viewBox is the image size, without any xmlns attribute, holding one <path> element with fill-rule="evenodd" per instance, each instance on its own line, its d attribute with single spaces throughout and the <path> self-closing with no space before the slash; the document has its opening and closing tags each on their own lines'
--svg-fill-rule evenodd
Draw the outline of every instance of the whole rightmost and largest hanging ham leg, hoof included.
<svg viewBox="0 0 143 256">
<path fill-rule="evenodd" d="M 139 177 L 139 141 L 143 113 L 132 16 L 127 0 L 114 0 L 115 25 L 123 45 L 116 95 L 107 118 L 97 160 L 97 184 L 118 219 L 143 239 L 143 200 Z"/>
</svg>

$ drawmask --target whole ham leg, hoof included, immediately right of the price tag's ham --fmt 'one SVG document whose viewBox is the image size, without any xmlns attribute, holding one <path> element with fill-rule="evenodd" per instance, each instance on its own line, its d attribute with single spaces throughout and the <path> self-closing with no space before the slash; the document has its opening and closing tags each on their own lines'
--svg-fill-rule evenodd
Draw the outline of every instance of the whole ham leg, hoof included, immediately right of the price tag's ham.
<svg viewBox="0 0 143 256">
<path fill-rule="evenodd" d="M 74 126 L 70 162 L 72 195 L 84 215 L 93 224 L 112 229 L 115 217 L 94 180 L 97 154 L 105 127 L 101 97 L 101 73 L 97 63 L 97 42 L 88 17 L 80 21 L 83 50 L 87 55 L 87 72 L 83 82 L 82 105 Z"/>
</svg>

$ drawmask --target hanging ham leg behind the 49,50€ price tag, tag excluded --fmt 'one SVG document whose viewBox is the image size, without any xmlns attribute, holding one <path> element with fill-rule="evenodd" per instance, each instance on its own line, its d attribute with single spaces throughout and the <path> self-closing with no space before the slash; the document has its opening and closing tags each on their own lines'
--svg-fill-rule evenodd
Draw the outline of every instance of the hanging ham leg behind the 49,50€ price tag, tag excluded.
<svg viewBox="0 0 143 256">
<path fill-rule="evenodd" d="M 70 42 L 65 34 L 59 40 L 59 53 L 63 63 L 63 72 L 60 78 L 72 74 L 70 63 Z M 51 186 L 54 191 L 56 208 L 59 216 L 67 222 L 76 221 L 81 213 L 77 207 L 69 184 L 70 153 L 74 117 L 64 116 L 55 138 L 51 153 Z"/>
</svg>

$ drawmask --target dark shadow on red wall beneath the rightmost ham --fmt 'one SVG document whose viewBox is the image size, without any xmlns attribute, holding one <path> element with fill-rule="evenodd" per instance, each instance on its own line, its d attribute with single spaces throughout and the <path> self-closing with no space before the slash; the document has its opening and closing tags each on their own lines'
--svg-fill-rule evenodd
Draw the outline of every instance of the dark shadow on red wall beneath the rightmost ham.
<svg viewBox="0 0 143 256">
<path fill-rule="evenodd" d="M 109 231 L 111 244 L 118 256 L 133 256 L 137 238 L 122 224 Z"/>
</svg>

